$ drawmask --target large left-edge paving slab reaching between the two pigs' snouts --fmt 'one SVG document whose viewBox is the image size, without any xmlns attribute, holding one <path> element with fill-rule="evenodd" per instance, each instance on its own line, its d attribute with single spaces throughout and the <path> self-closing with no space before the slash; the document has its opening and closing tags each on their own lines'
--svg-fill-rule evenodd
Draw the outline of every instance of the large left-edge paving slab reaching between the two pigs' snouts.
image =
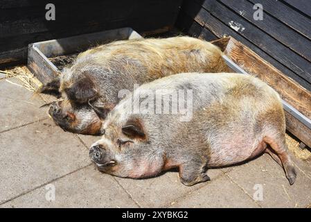
<svg viewBox="0 0 311 222">
<path fill-rule="evenodd" d="M 90 164 L 87 148 L 48 119 L 0 133 L 0 203 Z"/>
</svg>

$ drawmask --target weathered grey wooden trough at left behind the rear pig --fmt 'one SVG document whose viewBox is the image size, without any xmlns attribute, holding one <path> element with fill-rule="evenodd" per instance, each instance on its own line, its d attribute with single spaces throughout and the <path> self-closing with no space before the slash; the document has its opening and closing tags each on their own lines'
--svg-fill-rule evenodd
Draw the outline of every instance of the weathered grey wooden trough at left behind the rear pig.
<svg viewBox="0 0 311 222">
<path fill-rule="evenodd" d="M 51 62 L 51 58 L 85 51 L 91 46 L 140 38 L 132 28 L 118 28 L 110 31 L 65 37 L 57 40 L 35 42 L 28 46 L 27 67 L 44 86 L 55 85 L 59 81 L 60 70 Z"/>
</svg>

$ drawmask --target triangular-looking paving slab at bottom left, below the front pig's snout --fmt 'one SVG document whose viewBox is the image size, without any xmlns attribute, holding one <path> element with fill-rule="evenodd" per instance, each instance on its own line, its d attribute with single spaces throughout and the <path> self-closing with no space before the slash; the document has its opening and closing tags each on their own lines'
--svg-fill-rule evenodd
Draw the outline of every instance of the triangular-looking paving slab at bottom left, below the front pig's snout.
<svg viewBox="0 0 311 222">
<path fill-rule="evenodd" d="M 52 189 L 55 191 L 55 196 L 51 193 Z M 0 207 L 138 206 L 112 176 L 99 173 L 92 165 L 35 189 Z"/>
</svg>

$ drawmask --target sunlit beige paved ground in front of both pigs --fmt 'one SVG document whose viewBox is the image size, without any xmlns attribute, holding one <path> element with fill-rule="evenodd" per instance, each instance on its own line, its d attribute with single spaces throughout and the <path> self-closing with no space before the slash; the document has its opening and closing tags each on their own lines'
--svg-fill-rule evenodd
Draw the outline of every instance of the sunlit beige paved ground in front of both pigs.
<svg viewBox="0 0 311 222">
<path fill-rule="evenodd" d="M 46 108 L 39 109 L 44 103 L 40 96 L 22 87 L 2 79 L 0 90 L 0 207 L 311 205 L 311 167 L 297 159 L 293 186 L 268 155 L 238 167 L 211 169 L 211 181 L 193 187 L 181 185 L 174 171 L 147 180 L 105 175 L 88 157 L 96 137 L 65 133 L 47 117 Z"/>
</svg>

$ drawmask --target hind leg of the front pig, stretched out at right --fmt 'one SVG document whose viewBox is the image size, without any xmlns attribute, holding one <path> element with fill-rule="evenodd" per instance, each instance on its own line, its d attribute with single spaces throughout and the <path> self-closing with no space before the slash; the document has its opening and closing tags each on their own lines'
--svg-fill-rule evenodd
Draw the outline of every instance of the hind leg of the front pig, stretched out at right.
<svg viewBox="0 0 311 222">
<path fill-rule="evenodd" d="M 271 146 L 272 150 L 280 158 L 286 177 L 290 181 L 290 185 L 292 185 L 296 180 L 296 171 L 292 160 L 290 160 L 290 155 L 287 153 L 285 138 L 273 139 L 272 137 L 264 137 L 264 141 Z"/>
</svg>

